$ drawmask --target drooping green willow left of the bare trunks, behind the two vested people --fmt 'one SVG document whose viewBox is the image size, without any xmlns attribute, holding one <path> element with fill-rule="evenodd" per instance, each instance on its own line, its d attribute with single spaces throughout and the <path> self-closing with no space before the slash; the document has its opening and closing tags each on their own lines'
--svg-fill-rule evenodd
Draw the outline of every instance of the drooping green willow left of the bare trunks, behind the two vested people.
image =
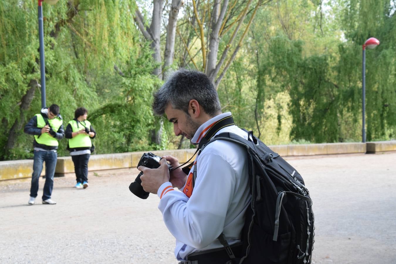
<svg viewBox="0 0 396 264">
<path fill-rule="evenodd" d="M 149 48 L 130 20 L 133 10 L 125 1 L 102 0 L 59 1 L 43 9 L 47 102 L 59 104 L 65 122 L 77 107 L 89 110 L 101 135 L 97 153 L 140 149 L 148 142 L 142 131 L 152 124 L 144 97 L 156 80 Z M 30 157 L 23 125 L 40 111 L 36 2 L 2 1 L 0 16 L 0 156 Z M 66 155 L 66 141 L 60 144 L 59 155 Z"/>
</svg>

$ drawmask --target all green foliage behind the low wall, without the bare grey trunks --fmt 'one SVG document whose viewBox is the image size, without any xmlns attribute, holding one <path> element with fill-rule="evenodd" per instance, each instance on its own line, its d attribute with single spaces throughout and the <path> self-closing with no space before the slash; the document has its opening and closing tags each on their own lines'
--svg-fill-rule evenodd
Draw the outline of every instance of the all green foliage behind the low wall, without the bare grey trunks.
<svg viewBox="0 0 396 264">
<path fill-rule="evenodd" d="M 36 4 L 0 1 L 0 160 L 32 157 L 32 136 L 23 126 L 41 108 Z M 243 6 L 236 4 L 232 12 Z M 360 141 L 362 44 L 373 36 L 381 44 L 366 51 L 367 141 L 395 139 L 394 7 L 389 0 L 266 4 L 219 85 L 223 112 L 231 111 L 240 127 L 268 144 Z M 152 116 L 152 93 L 161 81 L 151 74 L 157 65 L 133 21 L 133 8 L 120 0 L 43 4 L 47 104 L 61 106 L 65 127 L 77 107 L 86 107 L 97 131 L 97 154 L 192 147 L 188 140 L 180 143 L 171 123 Z M 187 27 L 196 21 L 187 23 L 190 4 L 183 11 L 180 21 L 186 23 L 178 23 L 178 34 L 195 57 L 198 31 Z M 205 19 L 210 23 L 209 15 Z M 231 35 L 232 30 L 222 35 L 219 57 Z M 194 68 L 180 38 L 176 47 L 173 65 Z M 157 144 L 149 131 L 160 128 Z M 59 156 L 68 155 L 66 144 L 60 141 Z"/>
</svg>

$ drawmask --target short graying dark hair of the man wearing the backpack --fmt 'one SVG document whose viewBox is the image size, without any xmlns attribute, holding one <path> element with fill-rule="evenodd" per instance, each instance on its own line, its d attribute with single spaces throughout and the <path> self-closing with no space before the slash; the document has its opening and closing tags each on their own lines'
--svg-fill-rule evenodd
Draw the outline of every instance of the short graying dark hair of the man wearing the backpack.
<svg viewBox="0 0 396 264">
<path fill-rule="evenodd" d="M 188 103 L 195 99 L 209 116 L 215 116 L 220 110 L 217 91 L 208 76 L 203 72 L 181 68 L 168 77 L 165 84 L 154 93 L 152 110 L 162 116 L 170 103 L 178 110 L 188 113 Z"/>
</svg>

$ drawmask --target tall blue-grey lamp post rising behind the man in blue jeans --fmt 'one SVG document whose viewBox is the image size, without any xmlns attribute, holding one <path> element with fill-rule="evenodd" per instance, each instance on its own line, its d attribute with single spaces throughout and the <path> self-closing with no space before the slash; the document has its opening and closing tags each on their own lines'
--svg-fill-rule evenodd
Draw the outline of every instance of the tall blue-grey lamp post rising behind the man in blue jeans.
<svg viewBox="0 0 396 264">
<path fill-rule="evenodd" d="M 58 0 L 38 0 L 38 39 L 40 41 L 41 108 L 46 107 L 46 66 L 44 58 L 44 28 L 42 2 L 54 5 Z"/>
</svg>

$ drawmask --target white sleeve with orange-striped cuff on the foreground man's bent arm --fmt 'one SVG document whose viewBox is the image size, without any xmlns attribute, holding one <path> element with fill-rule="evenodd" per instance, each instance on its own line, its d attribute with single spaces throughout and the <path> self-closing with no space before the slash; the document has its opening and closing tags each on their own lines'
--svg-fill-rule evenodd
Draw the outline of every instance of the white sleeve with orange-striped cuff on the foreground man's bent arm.
<svg viewBox="0 0 396 264">
<path fill-rule="evenodd" d="M 162 184 L 158 208 L 171 234 L 196 249 L 212 243 L 223 232 L 227 209 L 235 188 L 235 172 L 222 157 L 202 153 L 197 162 L 197 178 L 190 199 Z M 169 187 L 170 185 L 170 187 Z M 168 190 L 164 190 L 168 187 Z M 173 190 L 173 188 L 172 188 Z"/>
</svg>

